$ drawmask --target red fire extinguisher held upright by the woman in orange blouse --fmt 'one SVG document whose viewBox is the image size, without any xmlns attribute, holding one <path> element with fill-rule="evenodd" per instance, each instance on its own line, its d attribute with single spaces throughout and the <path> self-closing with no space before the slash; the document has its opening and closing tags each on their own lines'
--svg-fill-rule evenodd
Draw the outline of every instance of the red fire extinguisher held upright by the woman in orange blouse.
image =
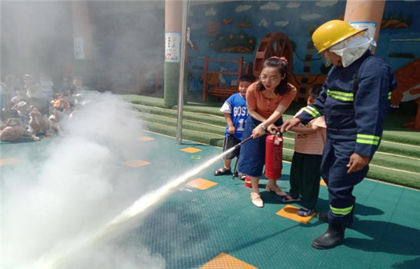
<svg viewBox="0 0 420 269">
<path fill-rule="evenodd" d="M 281 177 L 283 168 L 283 138 L 281 133 L 274 133 L 265 138 L 265 177 L 277 179 Z"/>
</svg>

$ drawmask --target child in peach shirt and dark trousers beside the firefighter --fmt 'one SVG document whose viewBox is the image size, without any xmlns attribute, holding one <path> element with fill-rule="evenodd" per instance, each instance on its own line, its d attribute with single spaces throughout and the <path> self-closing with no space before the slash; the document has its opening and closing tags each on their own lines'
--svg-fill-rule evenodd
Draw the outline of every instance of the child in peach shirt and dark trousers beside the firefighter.
<svg viewBox="0 0 420 269">
<path fill-rule="evenodd" d="M 321 90 L 322 85 L 314 85 L 309 90 L 308 105 L 314 103 Z M 302 110 L 303 108 L 296 115 Z M 295 153 L 290 167 L 290 191 L 288 195 L 280 196 L 279 199 L 283 203 L 300 201 L 302 208 L 297 211 L 297 215 L 302 217 L 309 216 L 318 201 L 325 129 L 323 116 L 312 119 L 305 126 L 290 129 L 295 132 Z M 302 199 L 299 196 L 302 196 Z"/>
</svg>

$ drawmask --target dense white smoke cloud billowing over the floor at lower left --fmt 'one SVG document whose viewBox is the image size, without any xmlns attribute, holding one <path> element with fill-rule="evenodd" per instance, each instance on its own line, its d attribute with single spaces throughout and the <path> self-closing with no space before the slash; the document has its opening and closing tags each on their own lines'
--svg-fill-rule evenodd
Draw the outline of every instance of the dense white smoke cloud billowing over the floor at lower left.
<svg viewBox="0 0 420 269">
<path fill-rule="evenodd" d="M 66 122 L 63 138 L 52 140 L 35 159 L 29 158 L 34 152 L 15 152 L 20 164 L 2 171 L 0 267 L 36 268 L 41 257 L 65 261 L 54 254 L 73 249 L 77 268 L 165 268 L 162 256 L 141 246 L 98 242 L 77 252 L 80 240 L 141 196 L 139 189 L 152 189 L 123 164 L 148 154 L 147 148 L 133 147 L 141 126 L 128 114 L 130 104 L 110 93 L 82 96 L 90 102 Z M 60 268 L 75 268 L 63 264 Z"/>
</svg>

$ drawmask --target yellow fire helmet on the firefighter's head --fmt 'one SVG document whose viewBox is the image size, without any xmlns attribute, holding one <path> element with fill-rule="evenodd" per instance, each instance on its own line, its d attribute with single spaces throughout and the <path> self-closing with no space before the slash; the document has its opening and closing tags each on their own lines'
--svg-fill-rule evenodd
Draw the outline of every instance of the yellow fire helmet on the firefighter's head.
<svg viewBox="0 0 420 269">
<path fill-rule="evenodd" d="M 365 30 L 356 29 L 343 20 L 330 20 L 314 31 L 312 41 L 318 50 L 318 54 L 321 54 L 324 50 L 328 50 L 333 45 L 362 31 Z"/>
</svg>

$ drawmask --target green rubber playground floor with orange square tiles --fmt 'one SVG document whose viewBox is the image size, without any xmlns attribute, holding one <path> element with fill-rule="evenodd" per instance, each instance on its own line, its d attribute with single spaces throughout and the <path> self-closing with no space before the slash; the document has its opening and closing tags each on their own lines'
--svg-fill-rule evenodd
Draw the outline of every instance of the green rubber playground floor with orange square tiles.
<svg viewBox="0 0 420 269">
<path fill-rule="evenodd" d="M 23 165 L 14 154 L 26 147 L 39 152 L 51 140 L 37 143 L 2 143 L 1 169 Z M 141 132 L 133 142 L 138 156 L 125 169 L 162 186 L 177 175 L 221 154 L 221 148 Z M 147 148 L 148 150 L 144 150 Z M 149 249 L 165 259 L 165 268 L 420 268 L 420 191 L 363 180 L 357 197 L 355 222 L 346 229 L 344 245 L 318 250 L 311 241 L 328 224 L 316 217 L 306 224 L 295 217 L 297 204 L 282 204 L 265 191 L 264 208 L 256 208 L 250 189 L 231 175 L 215 177 L 216 161 L 185 185 L 162 199 L 139 219 L 135 228 L 114 238 L 119 245 Z M 288 191 L 290 163 L 283 163 L 279 186 Z M 141 178 L 140 178 L 141 177 Z M 145 188 L 145 189 L 147 189 Z M 139 190 L 139 194 L 144 189 Z M 328 191 L 321 186 L 316 212 L 328 210 Z M 3 220 L 4 221 L 4 220 Z M 146 267 L 145 267 L 146 268 Z M 153 265 L 147 268 L 154 268 Z M 119 268 L 116 268 L 119 269 Z"/>
</svg>

